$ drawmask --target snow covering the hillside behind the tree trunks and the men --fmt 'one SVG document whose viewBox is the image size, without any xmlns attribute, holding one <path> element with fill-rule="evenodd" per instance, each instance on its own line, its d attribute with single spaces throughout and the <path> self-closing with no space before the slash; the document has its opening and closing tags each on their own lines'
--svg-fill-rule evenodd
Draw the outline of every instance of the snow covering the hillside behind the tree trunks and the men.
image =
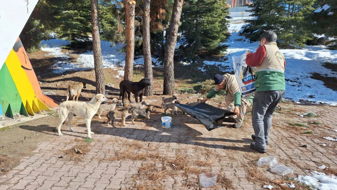
<svg viewBox="0 0 337 190">
<path fill-rule="evenodd" d="M 204 61 L 204 66 L 198 67 L 198 70 L 206 72 L 205 66 L 214 65 L 219 67 L 223 73 L 230 73 L 233 72 L 232 56 L 240 56 L 247 51 L 256 51 L 259 42 L 250 43 L 249 39 L 238 35 L 238 31 L 241 30 L 243 25 L 229 25 L 229 31 L 232 36 L 225 43 L 229 45 L 226 52 L 229 59 L 227 61 Z M 76 63 L 68 61 L 69 53 L 61 51 L 61 46 L 65 46 L 68 43 L 66 40 L 52 39 L 43 41 L 41 44 L 43 51 L 50 52 L 47 56 L 55 56 L 58 59 L 57 63 L 54 64 L 54 73 L 93 69 L 94 57 L 92 51 L 80 54 Z M 111 47 L 109 42 L 101 41 L 103 68 L 119 70 L 119 74 L 115 76 L 116 78 L 123 76 L 125 53 L 118 51 L 123 46 L 124 44 L 117 44 Z M 328 50 L 325 46 L 307 46 L 301 50 L 284 49 L 281 52 L 284 54 L 287 63 L 284 73 L 286 79 L 285 98 L 287 100 L 337 105 L 337 92 L 325 87 L 324 82 L 311 78 L 311 73 L 319 73 L 327 77 L 337 76 L 336 72 L 322 66 L 324 62 L 337 63 L 337 51 Z M 156 66 L 160 66 L 160 61 L 156 58 L 152 58 L 152 61 Z M 138 66 L 144 65 L 143 56 L 135 56 L 134 64 Z"/>
</svg>

